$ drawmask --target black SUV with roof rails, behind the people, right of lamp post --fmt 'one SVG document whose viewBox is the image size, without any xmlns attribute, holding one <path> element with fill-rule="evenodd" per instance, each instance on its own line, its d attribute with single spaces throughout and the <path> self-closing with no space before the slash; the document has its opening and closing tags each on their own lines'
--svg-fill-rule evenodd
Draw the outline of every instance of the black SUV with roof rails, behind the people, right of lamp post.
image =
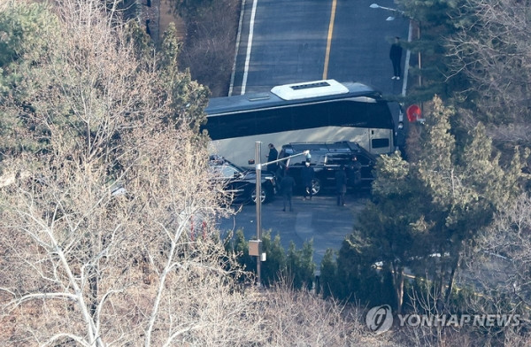
<svg viewBox="0 0 531 347">
<path fill-rule="evenodd" d="M 312 182 L 313 194 L 318 194 L 322 189 L 335 188 L 335 172 L 345 166 L 347 174 L 352 158 L 356 157 L 361 165 L 360 176 L 357 182 L 353 179 L 347 181 L 350 189 L 369 189 L 374 180 L 373 167 L 376 164 L 376 157 L 358 145 L 349 141 L 335 143 L 289 143 L 282 146 L 279 158 L 286 158 L 304 150 L 310 150 L 310 165 L 315 172 L 315 179 Z M 289 158 L 282 161 L 281 166 L 288 167 L 289 173 L 296 180 L 298 188 L 302 188 L 302 168 L 306 158 L 303 155 Z"/>
</svg>

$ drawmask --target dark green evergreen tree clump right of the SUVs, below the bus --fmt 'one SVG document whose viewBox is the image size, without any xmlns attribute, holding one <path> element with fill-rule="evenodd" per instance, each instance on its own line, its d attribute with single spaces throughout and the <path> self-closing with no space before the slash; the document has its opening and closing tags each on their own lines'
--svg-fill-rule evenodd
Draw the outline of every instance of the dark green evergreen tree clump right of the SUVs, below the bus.
<svg viewBox="0 0 531 347">
<path fill-rule="evenodd" d="M 510 166 L 501 166 L 481 124 L 458 150 L 452 115 L 435 98 L 421 126 L 418 158 L 381 157 L 372 201 L 343 242 L 336 267 L 327 257 L 321 276 L 334 284 L 322 283 L 327 295 L 373 305 L 380 297 L 401 312 L 407 270 L 433 282 L 439 306 L 454 300 L 467 247 L 519 195 L 521 159 L 516 152 Z"/>
</svg>

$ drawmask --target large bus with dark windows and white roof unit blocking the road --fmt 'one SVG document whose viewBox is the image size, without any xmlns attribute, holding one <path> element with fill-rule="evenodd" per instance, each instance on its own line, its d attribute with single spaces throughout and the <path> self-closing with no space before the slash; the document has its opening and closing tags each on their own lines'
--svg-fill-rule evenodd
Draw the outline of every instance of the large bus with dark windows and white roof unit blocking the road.
<svg viewBox="0 0 531 347">
<path fill-rule="evenodd" d="M 215 97 L 206 108 L 212 152 L 254 163 L 255 142 L 350 141 L 373 154 L 394 150 L 394 122 L 381 92 L 358 82 L 311 81 L 270 92 Z M 262 150 L 262 162 L 266 162 Z"/>
</svg>

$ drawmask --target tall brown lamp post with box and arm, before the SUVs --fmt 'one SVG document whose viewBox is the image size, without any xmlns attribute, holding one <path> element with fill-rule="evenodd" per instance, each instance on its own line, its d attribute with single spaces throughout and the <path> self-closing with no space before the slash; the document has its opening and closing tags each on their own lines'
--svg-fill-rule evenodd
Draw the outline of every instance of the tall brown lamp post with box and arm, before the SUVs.
<svg viewBox="0 0 531 347">
<path fill-rule="evenodd" d="M 283 160 L 288 160 L 289 158 L 295 158 L 295 157 L 299 157 L 302 155 L 305 155 L 306 159 L 311 158 L 310 150 L 304 150 L 302 153 L 297 153 L 297 154 L 294 154 L 286 158 L 281 158 L 281 159 L 268 161 L 266 163 L 261 163 L 261 155 L 262 155 L 262 143 L 260 141 L 257 141 L 255 143 L 255 163 L 256 163 L 256 178 L 257 178 L 256 191 L 255 191 L 255 197 L 256 197 L 255 203 L 257 207 L 257 240 L 254 243 L 250 243 L 249 255 L 257 257 L 257 285 L 258 287 L 262 285 L 260 262 L 266 260 L 266 253 L 262 252 L 262 166 L 273 164 L 273 163 L 278 163 Z"/>
</svg>

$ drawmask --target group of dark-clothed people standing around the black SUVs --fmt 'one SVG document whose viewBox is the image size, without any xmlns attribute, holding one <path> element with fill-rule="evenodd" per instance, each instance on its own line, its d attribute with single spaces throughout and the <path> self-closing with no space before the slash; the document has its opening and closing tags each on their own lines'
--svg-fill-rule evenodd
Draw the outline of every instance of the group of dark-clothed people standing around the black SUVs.
<svg viewBox="0 0 531 347">
<path fill-rule="evenodd" d="M 278 151 L 274 148 L 273 143 L 269 143 L 269 154 L 267 155 L 268 162 L 272 162 L 278 158 Z M 289 173 L 289 170 L 278 163 L 267 165 L 267 170 L 276 173 L 277 180 L 279 180 L 279 188 L 283 197 L 282 211 L 286 212 L 289 207 L 289 212 L 293 211 L 291 199 L 293 197 L 293 190 L 296 186 L 295 179 Z M 303 183 L 303 199 L 312 200 L 313 197 L 313 180 L 315 179 L 315 170 L 313 169 L 310 160 L 304 162 L 304 167 L 301 170 L 301 181 Z M 335 173 L 335 190 L 337 193 L 337 205 L 345 205 L 345 194 L 347 192 L 347 184 L 351 182 L 352 185 L 358 186 L 361 182 L 361 164 L 358 162 L 358 157 L 352 156 L 348 166 L 342 165 L 340 170 Z"/>
</svg>

